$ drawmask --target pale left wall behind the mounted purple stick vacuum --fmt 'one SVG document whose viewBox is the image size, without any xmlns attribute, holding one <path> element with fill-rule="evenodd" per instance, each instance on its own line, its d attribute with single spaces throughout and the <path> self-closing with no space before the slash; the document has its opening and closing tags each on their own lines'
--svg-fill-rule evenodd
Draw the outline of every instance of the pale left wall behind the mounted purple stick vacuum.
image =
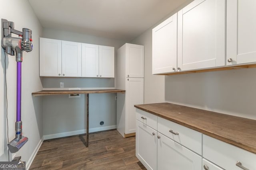
<svg viewBox="0 0 256 170">
<path fill-rule="evenodd" d="M 21 118 L 23 135 L 28 137 L 28 142 L 16 154 L 22 156 L 22 161 L 30 164 L 34 150 L 40 144 L 43 135 L 42 128 L 42 99 L 32 97 L 31 93 L 42 90 L 39 78 L 39 37 L 42 35 L 42 26 L 36 18 L 30 4 L 26 0 L 0 0 L 0 16 L 9 21 L 14 21 L 15 29 L 29 28 L 32 30 L 34 49 L 30 53 L 23 52 L 22 62 L 22 103 Z M 0 29 L 1 32 L 1 29 Z M 1 33 L 0 33 L 1 35 Z M 9 141 L 15 137 L 16 121 L 16 61 L 15 56 L 6 56 L 5 88 L 4 51 L 1 48 L 0 65 L 0 161 L 8 160 L 7 149 L 7 122 L 6 122 L 6 94 L 8 98 L 8 134 Z M 33 70 L 33 71 L 31 71 Z"/>
</svg>

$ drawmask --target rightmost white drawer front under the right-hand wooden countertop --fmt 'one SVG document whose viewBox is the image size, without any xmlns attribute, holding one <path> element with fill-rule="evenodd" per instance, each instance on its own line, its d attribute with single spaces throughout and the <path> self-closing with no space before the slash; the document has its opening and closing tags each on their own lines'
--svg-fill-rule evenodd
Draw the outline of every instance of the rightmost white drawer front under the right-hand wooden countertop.
<svg viewBox="0 0 256 170">
<path fill-rule="evenodd" d="M 203 157 L 226 170 L 241 170 L 236 162 L 249 170 L 255 170 L 256 154 L 203 135 Z"/>
</svg>

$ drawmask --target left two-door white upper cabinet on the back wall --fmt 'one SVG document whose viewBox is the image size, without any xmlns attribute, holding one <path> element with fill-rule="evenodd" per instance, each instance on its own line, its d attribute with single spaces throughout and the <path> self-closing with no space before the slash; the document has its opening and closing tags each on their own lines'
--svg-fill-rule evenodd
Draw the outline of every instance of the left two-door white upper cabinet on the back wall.
<svg viewBox="0 0 256 170">
<path fill-rule="evenodd" d="M 81 77 L 81 43 L 40 37 L 40 76 Z"/>
</svg>

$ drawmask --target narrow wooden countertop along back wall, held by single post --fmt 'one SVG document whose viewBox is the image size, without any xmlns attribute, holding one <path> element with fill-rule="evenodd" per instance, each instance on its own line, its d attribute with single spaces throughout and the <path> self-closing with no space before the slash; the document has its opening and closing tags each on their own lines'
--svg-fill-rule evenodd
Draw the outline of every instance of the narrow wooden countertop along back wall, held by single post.
<svg viewBox="0 0 256 170">
<path fill-rule="evenodd" d="M 92 93 L 125 93 L 125 90 L 106 89 L 106 90 L 42 90 L 33 92 L 33 96 L 60 95 L 60 94 L 92 94 Z"/>
</svg>

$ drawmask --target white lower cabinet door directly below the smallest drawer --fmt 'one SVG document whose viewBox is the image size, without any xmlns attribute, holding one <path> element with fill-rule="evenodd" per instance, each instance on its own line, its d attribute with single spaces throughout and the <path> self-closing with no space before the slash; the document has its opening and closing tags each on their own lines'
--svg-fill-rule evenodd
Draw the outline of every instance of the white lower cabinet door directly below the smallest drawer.
<svg viewBox="0 0 256 170">
<path fill-rule="evenodd" d="M 138 120 L 136 126 L 136 156 L 148 170 L 156 170 L 157 132 Z"/>
</svg>

